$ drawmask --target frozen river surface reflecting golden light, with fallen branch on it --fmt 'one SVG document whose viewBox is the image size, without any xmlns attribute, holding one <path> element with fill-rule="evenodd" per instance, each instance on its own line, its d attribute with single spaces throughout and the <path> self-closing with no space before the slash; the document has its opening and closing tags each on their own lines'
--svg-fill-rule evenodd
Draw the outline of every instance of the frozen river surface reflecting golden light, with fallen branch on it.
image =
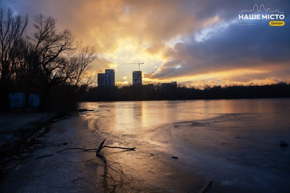
<svg viewBox="0 0 290 193">
<path fill-rule="evenodd" d="M 212 178 L 207 192 L 289 191 L 290 151 L 279 142 L 290 141 L 290 99 L 87 102 L 82 106 L 95 111 L 50 124 L 42 143 L 53 138 L 53 145 L 34 150 L 20 162 L 9 173 L 12 180 L 6 180 L 5 188 L 93 192 L 98 187 L 94 183 L 100 183 L 102 160 L 94 152 L 55 152 L 96 148 L 94 143 L 106 138 L 105 145 L 136 147 L 102 152 L 108 160 L 137 172 L 138 188 L 198 192 Z M 60 146 L 64 142 L 69 144 Z M 34 159 L 44 154 L 54 156 Z M 96 159 L 95 165 L 86 162 L 89 159 Z M 72 182 L 77 178 L 81 179 Z"/>
</svg>

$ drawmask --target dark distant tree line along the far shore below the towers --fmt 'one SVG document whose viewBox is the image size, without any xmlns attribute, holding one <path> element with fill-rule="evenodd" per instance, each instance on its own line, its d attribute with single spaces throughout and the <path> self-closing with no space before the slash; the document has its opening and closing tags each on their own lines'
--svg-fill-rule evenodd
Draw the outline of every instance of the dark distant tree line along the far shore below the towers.
<svg viewBox="0 0 290 193">
<path fill-rule="evenodd" d="M 290 82 L 257 85 L 250 83 L 230 85 L 182 85 L 164 90 L 161 83 L 114 88 L 91 88 L 81 95 L 82 101 L 136 101 L 136 100 L 187 100 L 187 99 L 244 99 L 290 97 Z"/>
</svg>

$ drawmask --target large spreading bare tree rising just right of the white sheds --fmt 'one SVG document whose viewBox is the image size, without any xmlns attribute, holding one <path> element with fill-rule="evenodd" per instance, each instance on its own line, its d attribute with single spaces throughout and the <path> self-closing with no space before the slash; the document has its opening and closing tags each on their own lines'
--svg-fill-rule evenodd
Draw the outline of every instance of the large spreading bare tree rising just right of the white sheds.
<svg viewBox="0 0 290 193">
<path fill-rule="evenodd" d="M 35 32 L 30 38 L 34 48 L 32 66 L 41 71 L 40 87 L 43 88 L 39 110 L 46 110 L 48 94 L 53 85 L 58 85 L 69 79 L 69 75 L 80 75 L 86 69 L 91 57 L 83 58 L 78 63 L 75 52 L 81 48 L 81 42 L 76 41 L 69 29 L 57 30 L 57 20 L 52 16 L 42 14 L 34 16 Z M 91 49 L 94 52 L 94 49 Z M 93 58 L 95 59 L 95 58 Z M 84 65 L 79 68 L 78 64 Z M 78 69 L 78 72 L 74 70 Z M 71 79 L 75 80 L 75 77 Z"/>
</svg>

